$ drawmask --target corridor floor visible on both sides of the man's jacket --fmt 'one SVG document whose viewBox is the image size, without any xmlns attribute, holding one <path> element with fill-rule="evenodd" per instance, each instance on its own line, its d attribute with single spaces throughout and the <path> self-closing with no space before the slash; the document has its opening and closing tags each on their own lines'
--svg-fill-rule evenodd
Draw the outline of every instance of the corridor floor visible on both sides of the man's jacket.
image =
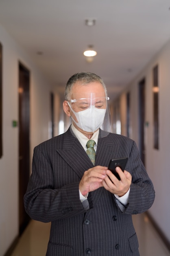
<svg viewBox="0 0 170 256">
<path fill-rule="evenodd" d="M 133 223 L 139 240 L 140 256 L 170 256 L 145 213 L 133 216 Z M 11 256 L 45 256 L 49 232 L 50 223 L 32 220 Z"/>
</svg>

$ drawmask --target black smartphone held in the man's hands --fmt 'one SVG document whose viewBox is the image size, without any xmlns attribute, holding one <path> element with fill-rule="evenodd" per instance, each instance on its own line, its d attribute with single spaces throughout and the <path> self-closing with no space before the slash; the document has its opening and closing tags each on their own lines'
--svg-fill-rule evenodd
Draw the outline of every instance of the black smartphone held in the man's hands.
<svg viewBox="0 0 170 256">
<path fill-rule="evenodd" d="M 122 171 L 124 171 L 126 167 L 128 157 L 122 157 L 122 158 L 117 158 L 117 159 L 111 159 L 109 162 L 109 167 L 108 169 L 117 177 L 118 180 L 120 180 L 120 176 L 118 175 L 116 171 L 116 167 L 120 167 Z"/>
</svg>

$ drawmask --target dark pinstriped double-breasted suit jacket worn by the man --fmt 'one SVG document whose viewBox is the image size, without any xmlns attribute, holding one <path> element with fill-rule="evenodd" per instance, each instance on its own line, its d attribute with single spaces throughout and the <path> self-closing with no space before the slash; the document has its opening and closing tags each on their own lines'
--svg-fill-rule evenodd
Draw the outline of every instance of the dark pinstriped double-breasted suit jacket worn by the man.
<svg viewBox="0 0 170 256">
<path fill-rule="evenodd" d="M 89 210 L 85 210 L 78 186 L 93 165 L 70 128 L 35 147 L 24 204 L 31 218 L 51 222 L 46 256 L 139 255 L 131 215 L 151 207 L 153 184 L 133 140 L 113 133 L 99 135 L 95 165 L 108 166 L 111 158 L 125 156 L 132 184 L 124 212 L 104 188 L 89 193 Z"/>
</svg>

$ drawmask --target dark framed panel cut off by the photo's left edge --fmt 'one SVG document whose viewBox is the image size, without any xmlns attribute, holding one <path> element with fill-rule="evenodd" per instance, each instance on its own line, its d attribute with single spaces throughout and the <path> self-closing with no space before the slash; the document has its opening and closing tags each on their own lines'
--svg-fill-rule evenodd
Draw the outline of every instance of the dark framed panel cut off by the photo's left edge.
<svg viewBox="0 0 170 256">
<path fill-rule="evenodd" d="M 2 44 L 0 43 L 0 157 L 2 157 Z"/>
</svg>

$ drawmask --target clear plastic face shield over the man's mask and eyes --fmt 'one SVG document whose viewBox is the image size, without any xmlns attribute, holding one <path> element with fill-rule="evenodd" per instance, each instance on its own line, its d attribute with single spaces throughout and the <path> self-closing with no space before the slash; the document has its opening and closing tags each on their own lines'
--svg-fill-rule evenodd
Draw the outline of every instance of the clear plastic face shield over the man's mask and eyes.
<svg viewBox="0 0 170 256">
<path fill-rule="evenodd" d="M 76 94 L 68 105 L 72 110 L 71 118 L 74 124 L 86 132 L 95 132 L 99 128 L 106 136 L 111 130 L 109 97 L 103 93 Z M 104 135 L 105 134 L 105 135 Z"/>
</svg>

